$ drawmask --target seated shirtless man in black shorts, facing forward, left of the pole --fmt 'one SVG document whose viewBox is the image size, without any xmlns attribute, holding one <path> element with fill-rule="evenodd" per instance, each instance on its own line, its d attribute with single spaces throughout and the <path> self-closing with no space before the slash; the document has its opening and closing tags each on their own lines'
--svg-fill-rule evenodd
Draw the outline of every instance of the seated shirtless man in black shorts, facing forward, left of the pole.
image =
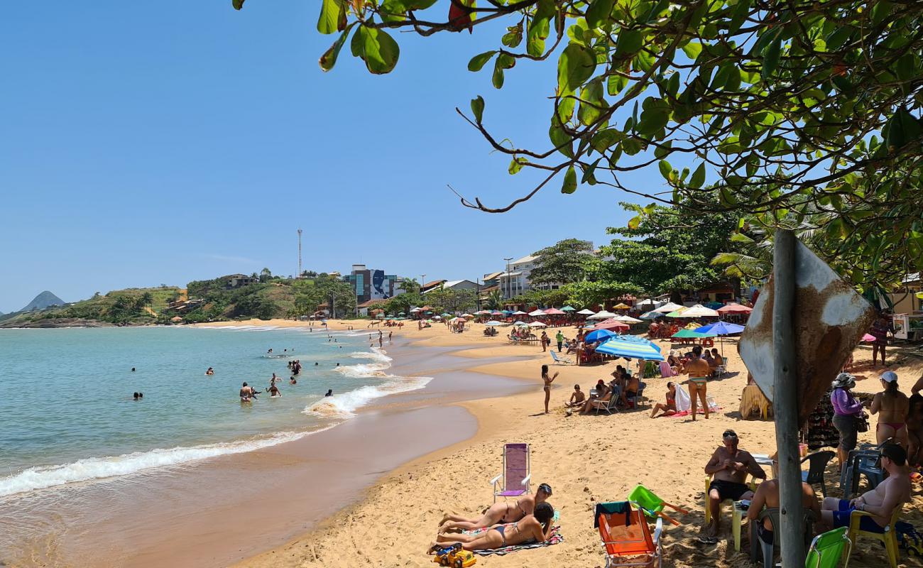
<svg viewBox="0 0 923 568">
<path fill-rule="evenodd" d="M 725 430 L 722 439 L 725 445 L 717 448 L 712 454 L 712 459 L 705 465 L 705 473 L 712 476 L 712 484 L 708 487 L 708 507 L 712 512 L 712 520 L 709 526 L 705 527 L 706 535 L 709 537 L 718 534 L 721 502 L 725 499 L 740 501 L 753 497 L 753 491 L 744 483 L 747 474 L 766 478 L 766 472 L 756 463 L 753 456 L 746 450 L 737 448 L 737 432 Z"/>
</svg>

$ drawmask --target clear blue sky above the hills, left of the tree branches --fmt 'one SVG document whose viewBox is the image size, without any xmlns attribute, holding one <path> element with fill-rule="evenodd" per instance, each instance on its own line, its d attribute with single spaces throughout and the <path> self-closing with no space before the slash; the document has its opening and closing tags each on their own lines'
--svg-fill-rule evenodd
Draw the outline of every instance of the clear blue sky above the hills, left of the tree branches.
<svg viewBox="0 0 923 568">
<path fill-rule="evenodd" d="M 0 311 L 44 289 L 66 301 L 232 272 L 348 271 L 460 279 L 576 236 L 608 242 L 629 196 L 559 182 L 505 214 L 462 208 L 451 184 L 506 204 L 509 175 L 455 114 L 544 147 L 554 61 L 521 62 L 502 91 L 467 70 L 500 33 L 396 34 L 397 69 L 370 75 L 348 46 L 318 57 L 319 3 L 250 0 L 9 3 L 0 18 Z M 656 168 L 628 178 L 662 189 Z"/>
</svg>

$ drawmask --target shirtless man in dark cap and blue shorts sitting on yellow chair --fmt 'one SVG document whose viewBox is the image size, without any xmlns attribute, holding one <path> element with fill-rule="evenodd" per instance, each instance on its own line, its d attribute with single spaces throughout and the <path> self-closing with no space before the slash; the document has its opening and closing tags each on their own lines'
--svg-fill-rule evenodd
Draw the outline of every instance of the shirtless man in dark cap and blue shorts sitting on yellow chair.
<svg viewBox="0 0 923 568">
<path fill-rule="evenodd" d="M 900 510 L 905 502 L 910 501 L 910 477 L 906 461 L 904 448 L 896 443 L 885 444 L 881 448 L 881 467 L 888 471 L 888 477 L 878 487 L 852 501 L 834 497 L 824 499 L 821 508 L 821 523 L 827 526 L 824 530 L 849 526 L 853 511 L 867 511 L 871 516 L 863 515 L 859 528 L 884 533 L 894 511 Z"/>
</svg>

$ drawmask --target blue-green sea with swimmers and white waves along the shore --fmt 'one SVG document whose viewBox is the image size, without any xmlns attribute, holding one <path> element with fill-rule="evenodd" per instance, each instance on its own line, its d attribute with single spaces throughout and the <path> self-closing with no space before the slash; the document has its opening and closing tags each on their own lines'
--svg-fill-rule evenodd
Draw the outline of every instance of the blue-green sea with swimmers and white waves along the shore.
<svg viewBox="0 0 923 568">
<path fill-rule="evenodd" d="M 390 375 L 370 343 L 258 326 L 0 330 L 0 498 L 294 440 L 426 385 Z M 244 381 L 262 390 L 272 373 L 281 397 L 240 402 Z"/>
</svg>

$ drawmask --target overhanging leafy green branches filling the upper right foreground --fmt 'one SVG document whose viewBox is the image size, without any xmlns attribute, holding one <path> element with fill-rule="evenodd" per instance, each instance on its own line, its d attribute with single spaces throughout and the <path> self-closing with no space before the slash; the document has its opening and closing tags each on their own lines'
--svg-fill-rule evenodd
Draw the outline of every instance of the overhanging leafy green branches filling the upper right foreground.
<svg viewBox="0 0 923 568">
<path fill-rule="evenodd" d="M 509 211 L 552 180 L 563 193 L 599 184 L 748 213 L 769 229 L 824 231 L 861 266 L 847 274 L 854 282 L 923 268 L 923 3 L 322 0 L 318 30 L 337 35 L 319 64 L 330 70 L 349 41 L 370 72 L 389 73 L 400 57 L 395 31 L 429 36 L 491 21 L 508 25 L 468 69 L 491 69 L 501 89 L 517 63 L 555 65 L 548 140 L 509 143 L 491 131 L 480 95 L 459 112 L 509 155 L 510 174 L 545 175 L 509 204 L 463 204 Z M 653 166 L 665 191 L 623 182 Z M 704 189 L 712 185 L 716 200 Z"/>
</svg>

